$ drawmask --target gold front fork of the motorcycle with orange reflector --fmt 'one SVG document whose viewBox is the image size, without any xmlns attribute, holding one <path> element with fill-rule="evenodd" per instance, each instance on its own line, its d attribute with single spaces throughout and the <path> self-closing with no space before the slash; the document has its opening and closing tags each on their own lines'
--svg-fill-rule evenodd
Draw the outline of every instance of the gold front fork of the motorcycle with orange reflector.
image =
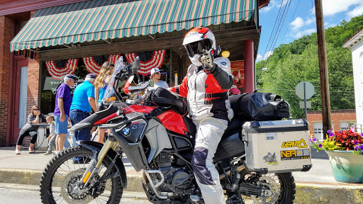
<svg viewBox="0 0 363 204">
<path fill-rule="evenodd" d="M 102 147 L 102 149 L 100 150 L 97 158 L 94 152 L 94 157 L 91 159 L 91 162 L 89 162 L 89 166 L 87 167 L 86 171 L 82 176 L 82 182 L 79 182 L 79 187 L 86 186 L 89 183 L 89 179 L 92 178 L 94 172 L 99 170 L 99 167 L 101 166 L 102 161 L 104 161 L 104 157 L 106 156 L 108 150 L 110 148 L 116 149 L 117 145 L 117 141 L 106 140 L 104 147 Z"/>
</svg>

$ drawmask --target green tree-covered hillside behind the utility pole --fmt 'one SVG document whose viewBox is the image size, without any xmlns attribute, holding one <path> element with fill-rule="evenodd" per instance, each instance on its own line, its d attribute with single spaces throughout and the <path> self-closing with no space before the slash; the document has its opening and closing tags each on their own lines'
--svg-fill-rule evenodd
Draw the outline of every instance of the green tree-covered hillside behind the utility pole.
<svg viewBox="0 0 363 204">
<path fill-rule="evenodd" d="M 342 45 L 361 28 L 363 15 L 325 30 L 332 110 L 354 109 L 352 52 Z M 278 94 L 288 101 L 292 118 L 303 118 L 303 109 L 299 108 L 299 102 L 303 100 L 295 94 L 300 81 L 309 81 L 315 87 L 315 95 L 309 100 L 312 106 L 309 111 L 321 110 L 316 36 L 313 33 L 288 45 L 281 44 L 267 60 L 256 63 L 257 89 Z"/>
</svg>

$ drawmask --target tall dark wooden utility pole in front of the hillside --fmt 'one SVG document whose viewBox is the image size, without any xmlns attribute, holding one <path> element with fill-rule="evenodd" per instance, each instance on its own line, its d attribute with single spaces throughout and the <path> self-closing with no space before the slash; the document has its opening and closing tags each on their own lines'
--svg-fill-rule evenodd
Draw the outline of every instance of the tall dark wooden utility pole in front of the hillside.
<svg viewBox="0 0 363 204">
<path fill-rule="evenodd" d="M 325 139 L 327 131 L 331 130 L 332 126 L 330 117 L 328 58 L 326 56 L 323 5 L 321 4 L 321 0 L 315 0 L 315 17 L 317 31 L 316 33 L 318 34 L 318 56 L 320 72 L 321 112 L 323 116 L 323 137 Z"/>
</svg>

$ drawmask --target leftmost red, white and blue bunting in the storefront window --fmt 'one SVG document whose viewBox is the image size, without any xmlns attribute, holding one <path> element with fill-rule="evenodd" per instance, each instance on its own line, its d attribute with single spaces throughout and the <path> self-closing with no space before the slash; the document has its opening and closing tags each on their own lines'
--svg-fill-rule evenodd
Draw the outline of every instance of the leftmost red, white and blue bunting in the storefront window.
<svg viewBox="0 0 363 204">
<path fill-rule="evenodd" d="M 78 59 L 52 60 L 45 62 L 48 73 L 55 80 L 63 80 L 65 75 L 76 71 Z"/>
</svg>

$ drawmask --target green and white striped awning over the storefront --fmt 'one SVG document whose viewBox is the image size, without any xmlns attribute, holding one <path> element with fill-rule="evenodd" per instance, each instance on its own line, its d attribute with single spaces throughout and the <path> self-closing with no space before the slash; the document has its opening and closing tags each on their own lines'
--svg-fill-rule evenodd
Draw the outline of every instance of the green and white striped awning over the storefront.
<svg viewBox="0 0 363 204">
<path fill-rule="evenodd" d="M 254 21 L 256 0 L 91 0 L 38 10 L 11 52 Z"/>
</svg>

